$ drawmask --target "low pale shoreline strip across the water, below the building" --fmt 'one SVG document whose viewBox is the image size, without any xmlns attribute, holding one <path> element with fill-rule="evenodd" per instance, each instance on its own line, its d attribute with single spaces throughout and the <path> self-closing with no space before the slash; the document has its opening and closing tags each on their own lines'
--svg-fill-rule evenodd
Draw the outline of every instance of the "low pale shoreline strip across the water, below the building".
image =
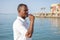
<svg viewBox="0 0 60 40">
<path fill-rule="evenodd" d="M 60 18 L 60 13 L 36 13 L 34 16 L 37 18 Z"/>
</svg>

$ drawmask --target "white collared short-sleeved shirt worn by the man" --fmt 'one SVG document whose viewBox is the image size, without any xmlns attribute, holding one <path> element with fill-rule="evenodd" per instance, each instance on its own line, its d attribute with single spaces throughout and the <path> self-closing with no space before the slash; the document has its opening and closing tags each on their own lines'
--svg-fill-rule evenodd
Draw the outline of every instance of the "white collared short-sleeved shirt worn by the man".
<svg viewBox="0 0 60 40">
<path fill-rule="evenodd" d="M 14 40 L 31 40 L 31 38 L 25 37 L 27 29 L 28 24 L 26 23 L 26 21 L 18 16 L 13 23 Z"/>
</svg>

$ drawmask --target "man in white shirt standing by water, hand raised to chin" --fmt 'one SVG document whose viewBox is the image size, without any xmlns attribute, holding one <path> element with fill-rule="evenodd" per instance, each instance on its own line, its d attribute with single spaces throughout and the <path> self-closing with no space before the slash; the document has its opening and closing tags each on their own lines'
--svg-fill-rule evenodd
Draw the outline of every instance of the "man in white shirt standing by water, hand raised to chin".
<svg viewBox="0 0 60 40">
<path fill-rule="evenodd" d="M 25 4 L 18 5 L 18 17 L 13 23 L 14 40 L 31 40 L 34 28 L 34 16 L 28 15 L 28 7 Z M 25 21 L 29 17 L 30 25 Z"/>
</svg>

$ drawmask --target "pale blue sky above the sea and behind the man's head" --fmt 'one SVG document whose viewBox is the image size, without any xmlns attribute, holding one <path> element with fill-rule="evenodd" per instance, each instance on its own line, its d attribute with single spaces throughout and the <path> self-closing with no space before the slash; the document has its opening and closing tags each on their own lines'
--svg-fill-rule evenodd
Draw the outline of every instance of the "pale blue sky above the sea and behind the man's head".
<svg viewBox="0 0 60 40">
<path fill-rule="evenodd" d="M 26 4 L 29 13 L 38 13 L 42 7 L 45 7 L 44 12 L 50 12 L 51 4 L 60 3 L 60 0 L 0 0 L 0 13 L 17 13 L 17 6 L 19 4 Z"/>
</svg>

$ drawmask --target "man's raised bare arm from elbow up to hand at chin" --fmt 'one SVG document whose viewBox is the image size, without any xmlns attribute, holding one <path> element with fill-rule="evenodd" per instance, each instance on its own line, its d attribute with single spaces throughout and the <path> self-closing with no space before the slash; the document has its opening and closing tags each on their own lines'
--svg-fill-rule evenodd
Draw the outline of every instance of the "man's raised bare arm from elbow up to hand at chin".
<svg viewBox="0 0 60 40">
<path fill-rule="evenodd" d="M 30 14 L 29 19 L 30 19 L 30 26 L 26 33 L 26 37 L 31 38 L 33 34 L 33 28 L 34 28 L 34 16 Z"/>
</svg>

